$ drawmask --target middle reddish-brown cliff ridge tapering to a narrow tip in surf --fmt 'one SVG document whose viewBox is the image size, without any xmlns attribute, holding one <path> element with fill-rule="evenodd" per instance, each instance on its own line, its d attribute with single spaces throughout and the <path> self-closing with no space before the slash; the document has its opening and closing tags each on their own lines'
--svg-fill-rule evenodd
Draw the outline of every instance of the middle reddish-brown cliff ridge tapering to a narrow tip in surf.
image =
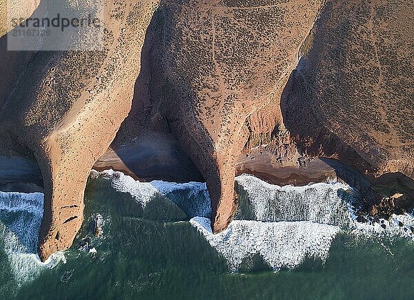
<svg viewBox="0 0 414 300">
<path fill-rule="evenodd" d="M 213 230 L 233 219 L 246 119 L 282 125 L 279 99 L 320 1 L 164 1 L 148 34 L 148 75 L 125 126 L 174 134 L 207 182 Z M 122 131 L 130 136 L 130 131 Z M 136 133 L 143 134 L 142 131 Z M 122 140 L 122 137 L 119 137 Z M 116 145 L 115 145 L 116 148 Z"/>
</svg>

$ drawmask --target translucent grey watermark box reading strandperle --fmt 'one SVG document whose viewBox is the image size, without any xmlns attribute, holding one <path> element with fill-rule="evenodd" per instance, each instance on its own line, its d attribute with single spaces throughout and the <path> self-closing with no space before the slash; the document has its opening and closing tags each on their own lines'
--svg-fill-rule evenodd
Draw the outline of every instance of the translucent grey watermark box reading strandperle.
<svg viewBox="0 0 414 300">
<path fill-rule="evenodd" d="M 103 49 L 103 0 L 8 0 L 9 51 Z"/>
</svg>

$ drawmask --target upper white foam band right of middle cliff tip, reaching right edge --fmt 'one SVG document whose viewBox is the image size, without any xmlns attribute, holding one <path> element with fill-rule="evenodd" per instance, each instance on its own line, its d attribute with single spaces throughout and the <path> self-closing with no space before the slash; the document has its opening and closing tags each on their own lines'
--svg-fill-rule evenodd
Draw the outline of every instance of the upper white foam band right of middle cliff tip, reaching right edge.
<svg viewBox="0 0 414 300">
<path fill-rule="evenodd" d="M 413 215 L 393 215 L 390 221 L 380 219 L 380 224 L 357 222 L 353 204 L 358 195 L 347 184 L 336 182 L 281 187 L 252 175 L 240 175 L 236 182 L 243 194 L 239 199 L 238 212 L 242 217 L 247 214 L 259 221 L 312 221 L 335 225 L 365 237 L 400 236 L 414 239 Z"/>
</svg>

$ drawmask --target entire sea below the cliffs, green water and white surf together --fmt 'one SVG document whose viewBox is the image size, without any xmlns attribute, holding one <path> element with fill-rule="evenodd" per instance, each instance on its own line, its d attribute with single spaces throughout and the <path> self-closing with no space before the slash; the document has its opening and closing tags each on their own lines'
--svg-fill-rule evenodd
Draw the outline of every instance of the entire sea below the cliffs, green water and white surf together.
<svg viewBox="0 0 414 300">
<path fill-rule="evenodd" d="M 213 235 L 205 184 L 92 172 L 81 231 L 44 264 L 43 195 L 0 193 L 0 299 L 413 299 L 412 215 L 358 223 L 340 183 L 235 189 L 235 221 Z"/>
</svg>

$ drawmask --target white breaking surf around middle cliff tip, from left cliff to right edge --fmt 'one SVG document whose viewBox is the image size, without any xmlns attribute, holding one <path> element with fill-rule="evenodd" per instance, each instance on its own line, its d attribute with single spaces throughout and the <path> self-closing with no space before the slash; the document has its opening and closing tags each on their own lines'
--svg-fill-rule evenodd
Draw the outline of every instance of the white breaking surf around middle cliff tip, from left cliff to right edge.
<svg viewBox="0 0 414 300">
<path fill-rule="evenodd" d="M 306 258 L 324 262 L 338 233 L 368 238 L 413 237 L 412 215 L 393 215 L 389 221 L 380 220 L 380 224 L 357 222 L 354 204 L 359 194 L 339 182 L 277 186 L 252 175 L 237 176 L 239 208 L 235 220 L 226 231 L 214 235 L 206 184 L 139 182 L 112 170 L 94 171 L 92 178 L 108 180 L 113 189 L 129 193 L 144 209 L 159 197 L 177 205 L 226 259 L 232 272 L 255 255 L 273 270 L 297 268 Z"/>
</svg>

